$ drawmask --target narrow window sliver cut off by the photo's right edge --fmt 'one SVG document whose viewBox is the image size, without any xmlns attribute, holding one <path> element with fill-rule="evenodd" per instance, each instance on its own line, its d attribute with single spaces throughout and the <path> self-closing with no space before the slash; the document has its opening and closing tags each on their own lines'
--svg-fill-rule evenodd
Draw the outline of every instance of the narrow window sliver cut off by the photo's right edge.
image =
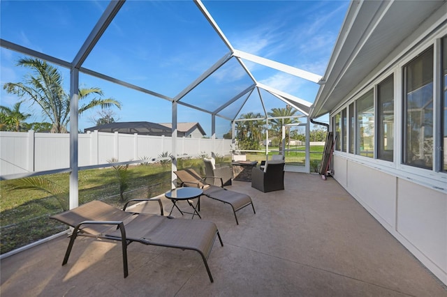
<svg viewBox="0 0 447 297">
<path fill-rule="evenodd" d="M 443 69 L 443 82 L 441 85 L 444 89 L 444 92 L 441 92 L 444 99 L 441 104 L 441 135 L 443 135 L 441 139 L 441 168 L 442 171 L 447 172 L 447 36 L 442 40 L 441 59 Z"/>
</svg>

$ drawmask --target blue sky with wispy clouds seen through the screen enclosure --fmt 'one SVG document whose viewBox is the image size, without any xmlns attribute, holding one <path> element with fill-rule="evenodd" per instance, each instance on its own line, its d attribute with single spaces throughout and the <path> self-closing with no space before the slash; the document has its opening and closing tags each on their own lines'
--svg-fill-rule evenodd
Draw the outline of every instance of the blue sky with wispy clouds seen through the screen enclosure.
<svg viewBox="0 0 447 297">
<path fill-rule="evenodd" d="M 236 50 L 323 75 L 339 33 L 349 1 L 203 1 Z M 32 50 L 73 61 L 82 43 L 108 6 L 108 1 L 4 1 L 1 5 L 1 38 Z M 36 13 L 38 12 L 38 13 Z M 228 47 L 203 17 L 193 1 L 126 1 L 115 20 L 82 65 L 149 89 L 175 97 L 191 82 L 228 54 Z M 15 63 L 22 54 L 1 48 L 0 82 L 21 82 L 27 69 Z M 313 102 L 318 85 L 305 79 L 244 61 L 263 84 Z M 66 91 L 69 72 L 64 75 Z M 98 86 L 105 97 L 122 102 L 115 109 L 119 121 L 171 121 L 171 103 L 103 79 L 80 75 L 81 86 Z M 252 84 L 237 61 L 229 61 L 183 100 L 202 108 L 217 108 Z M 17 98 L 1 89 L 1 105 L 12 107 Z M 272 96 L 265 107 L 284 107 Z M 240 100 L 222 114 L 232 116 Z M 41 112 L 23 105 L 41 121 Z M 241 110 L 262 112 L 256 94 Z M 79 128 L 94 125 L 96 111 L 80 116 Z M 178 121 L 198 121 L 207 135 L 211 117 L 179 106 Z M 217 137 L 230 129 L 230 122 L 217 118 Z"/>
</svg>

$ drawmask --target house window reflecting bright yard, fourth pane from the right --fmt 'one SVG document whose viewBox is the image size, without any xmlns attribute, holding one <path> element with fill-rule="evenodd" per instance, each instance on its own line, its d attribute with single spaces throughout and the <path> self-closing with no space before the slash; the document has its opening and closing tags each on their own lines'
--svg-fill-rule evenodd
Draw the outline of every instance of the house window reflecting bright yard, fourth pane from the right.
<svg viewBox="0 0 447 297">
<path fill-rule="evenodd" d="M 357 100 L 356 154 L 374 158 L 374 93 L 369 91 Z"/>
</svg>

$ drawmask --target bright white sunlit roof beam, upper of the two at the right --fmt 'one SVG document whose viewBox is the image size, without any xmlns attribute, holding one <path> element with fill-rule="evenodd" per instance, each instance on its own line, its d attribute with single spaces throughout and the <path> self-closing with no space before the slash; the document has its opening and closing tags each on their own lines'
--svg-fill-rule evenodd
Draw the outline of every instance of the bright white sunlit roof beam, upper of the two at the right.
<svg viewBox="0 0 447 297">
<path fill-rule="evenodd" d="M 240 50 L 234 50 L 233 56 L 237 56 L 240 59 L 245 59 L 252 61 L 254 63 L 261 64 L 263 66 L 267 66 L 279 71 L 282 71 L 284 73 L 288 73 L 291 75 L 295 75 L 297 77 L 301 77 L 304 79 L 309 80 L 310 82 L 318 83 L 321 80 L 321 75 L 316 75 L 314 73 L 309 73 L 309 71 L 301 70 L 292 66 L 288 66 L 283 63 L 279 63 L 276 61 L 272 61 L 269 59 L 262 58 L 261 56 L 255 56 L 254 54 L 249 54 L 247 52 L 241 52 Z"/>
</svg>

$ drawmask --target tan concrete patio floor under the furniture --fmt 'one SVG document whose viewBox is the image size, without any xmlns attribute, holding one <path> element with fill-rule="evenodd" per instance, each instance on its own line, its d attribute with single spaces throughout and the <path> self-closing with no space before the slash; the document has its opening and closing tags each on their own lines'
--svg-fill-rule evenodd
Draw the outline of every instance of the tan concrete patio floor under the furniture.
<svg viewBox="0 0 447 297">
<path fill-rule="evenodd" d="M 217 223 L 223 247 L 197 252 L 129 245 L 123 277 L 117 243 L 78 238 L 61 266 L 68 238 L 1 260 L 1 296 L 447 296 L 446 287 L 334 179 L 286 172 L 286 190 L 251 196 L 237 213 L 202 198 L 203 220 Z M 166 210 L 170 202 L 163 201 Z M 187 207 L 183 206 L 183 207 Z M 173 213 L 174 216 L 181 216 Z M 189 217 L 187 217 L 189 218 Z M 196 220 L 196 218 L 194 218 Z"/>
</svg>

